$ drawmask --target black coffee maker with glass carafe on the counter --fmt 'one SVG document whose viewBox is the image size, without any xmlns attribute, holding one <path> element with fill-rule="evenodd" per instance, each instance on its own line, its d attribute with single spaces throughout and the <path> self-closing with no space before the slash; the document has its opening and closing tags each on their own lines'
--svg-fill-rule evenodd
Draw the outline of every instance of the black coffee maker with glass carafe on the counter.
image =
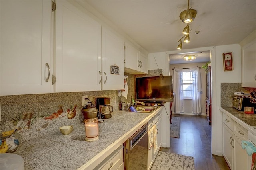
<svg viewBox="0 0 256 170">
<path fill-rule="evenodd" d="M 108 119 L 111 116 L 111 112 L 113 112 L 113 106 L 110 106 L 110 98 L 107 97 L 99 97 L 96 99 L 96 108 L 101 114 L 100 118 Z"/>
</svg>

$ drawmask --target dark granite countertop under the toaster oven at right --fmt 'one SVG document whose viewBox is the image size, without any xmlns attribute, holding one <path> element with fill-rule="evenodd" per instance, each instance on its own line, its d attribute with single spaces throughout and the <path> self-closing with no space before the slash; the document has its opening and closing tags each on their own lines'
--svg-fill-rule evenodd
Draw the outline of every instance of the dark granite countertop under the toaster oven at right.
<svg viewBox="0 0 256 170">
<path fill-rule="evenodd" d="M 240 119 L 249 126 L 256 126 L 256 114 L 245 114 L 243 111 L 238 111 L 233 107 L 221 107 L 222 111 L 227 111 L 235 118 Z"/>
</svg>

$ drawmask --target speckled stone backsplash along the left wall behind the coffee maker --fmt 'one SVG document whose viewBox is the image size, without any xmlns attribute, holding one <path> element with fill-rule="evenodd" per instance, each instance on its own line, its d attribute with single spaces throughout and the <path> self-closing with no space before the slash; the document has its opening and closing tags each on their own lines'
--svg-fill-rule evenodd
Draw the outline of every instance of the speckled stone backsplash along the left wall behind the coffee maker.
<svg viewBox="0 0 256 170">
<path fill-rule="evenodd" d="M 159 76 L 162 70 L 149 70 L 148 74 L 133 75 L 127 74 L 128 95 L 127 99 L 118 96 L 118 90 L 105 90 L 93 92 L 67 92 L 67 93 L 49 93 L 49 94 L 30 94 L 30 95 L 13 95 L 0 96 L 1 115 L 0 134 L 3 131 L 9 131 L 15 128 L 15 124 L 22 118 L 24 113 L 31 112 L 32 121 L 29 129 L 24 128 L 24 124 L 18 133 L 21 141 L 28 141 L 40 135 L 57 131 L 64 125 L 75 125 L 82 123 L 82 96 L 88 95 L 92 103 L 96 104 L 97 97 L 110 97 L 110 105 L 114 111 L 119 109 L 119 102 L 130 102 L 131 97 L 135 96 L 135 80 L 140 76 Z M 71 105 L 77 105 L 76 116 L 68 119 L 67 109 Z M 57 113 L 58 106 L 63 106 L 63 114 L 58 118 L 45 119 L 46 116 Z M 27 121 L 27 120 L 26 120 Z"/>
</svg>

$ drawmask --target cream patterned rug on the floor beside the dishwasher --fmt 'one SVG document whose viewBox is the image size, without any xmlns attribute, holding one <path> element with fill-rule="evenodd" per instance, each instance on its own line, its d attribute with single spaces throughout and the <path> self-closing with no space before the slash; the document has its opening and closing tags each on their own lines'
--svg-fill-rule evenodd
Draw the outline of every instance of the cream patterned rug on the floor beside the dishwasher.
<svg viewBox="0 0 256 170">
<path fill-rule="evenodd" d="M 151 170 L 194 170 L 194 157 L 159 151 Z"/>
</svg>

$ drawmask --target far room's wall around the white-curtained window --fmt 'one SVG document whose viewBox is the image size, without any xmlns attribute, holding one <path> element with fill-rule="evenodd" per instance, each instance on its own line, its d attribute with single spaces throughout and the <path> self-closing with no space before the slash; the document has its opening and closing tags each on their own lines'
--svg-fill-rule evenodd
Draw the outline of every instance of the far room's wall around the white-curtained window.
<svg viewBox="0 0 256 170">
<path fill-rule="evenodd" d="M 202 66 L 206 63 L 187 63 L 187 64 L 171 64 L 170 65 L 170 75 L 173 74 L 173 68 L 193 68 L 193 67 L 201 67 L 201 81 L 202 81 L 202 95 L 201 95 L 201 103 L 202 103 L 202 115 L 206 115 L 206 72 L 202 68 Z M 175 101 L 174 101 L 175 102 Z M 172 112 L 174 113 L 174 107 L 172 107 Z M 184 100 L 184 114 L 192 114 L 192 99 Z"/>
</svg>

